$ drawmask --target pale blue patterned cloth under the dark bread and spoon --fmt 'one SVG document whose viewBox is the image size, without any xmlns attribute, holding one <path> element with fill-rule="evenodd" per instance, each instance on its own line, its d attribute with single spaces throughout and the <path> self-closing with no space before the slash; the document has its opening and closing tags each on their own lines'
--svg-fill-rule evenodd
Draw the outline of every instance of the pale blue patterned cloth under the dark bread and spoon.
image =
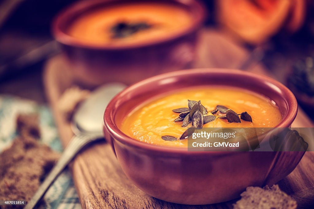
<svg viewBox="0 0 314 209">
<path fill-rule="evenodd" d="M 58 131 L 51 110 L 46 105 L 7 95 L 0 95 L 0 152 L 16 137 L 16 117 L 19 113 L 40 115 L 41 140 L 57 152 L 62 152 Z M 71 174 L 65 169 L 44 196 L 47 209 L 80 209 Z"/>
</svg>

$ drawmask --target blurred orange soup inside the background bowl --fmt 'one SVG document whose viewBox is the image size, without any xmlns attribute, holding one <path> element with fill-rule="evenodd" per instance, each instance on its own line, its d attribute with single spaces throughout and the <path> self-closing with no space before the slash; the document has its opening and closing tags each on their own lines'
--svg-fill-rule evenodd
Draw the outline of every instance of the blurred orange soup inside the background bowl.
<svg viewBox="0 0 314 209">
<path fill-rule="evenodd" d="M 78 16 L 68 33 L 85 43 L 128 45 L 179 33 L 189 27 L 191 18 L 186 9 L 170 3 L 125 3 L 98 8 Z M 126 28 L 125 24 L 131 27 Z M 144 25 L 134 30 L 143 24 L 148 27 Z M 120 27 L 122 37 L 116 37 L 113 32 L 115 26 Z"/>
</svg>

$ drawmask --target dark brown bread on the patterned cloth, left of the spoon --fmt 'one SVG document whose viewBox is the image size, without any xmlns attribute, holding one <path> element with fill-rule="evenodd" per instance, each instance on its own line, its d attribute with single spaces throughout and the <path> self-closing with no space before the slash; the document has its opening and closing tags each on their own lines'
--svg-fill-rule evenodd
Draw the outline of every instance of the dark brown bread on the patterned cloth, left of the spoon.
<svg viewBox="0 0 314 209">
<path fill-rule="evenodd" d="M 19 136 L 0 153 L 0 200 L 29 201 L 60 157 L 38 140 L 38 115 L 19 115 L 17 129 Z M 0 209 L 23 207 L 0 205 Z"/>
</svg>

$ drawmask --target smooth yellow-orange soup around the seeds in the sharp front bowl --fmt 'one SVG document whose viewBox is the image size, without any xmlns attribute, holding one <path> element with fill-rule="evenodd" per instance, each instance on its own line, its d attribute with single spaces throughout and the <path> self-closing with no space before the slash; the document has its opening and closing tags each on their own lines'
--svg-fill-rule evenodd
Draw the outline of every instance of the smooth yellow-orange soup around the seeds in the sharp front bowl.
<svg viewBox="0 0 314 209">
<path fill-rule="evenodd" d="M 252 122 L 230 123 L 216 118 L 203 127 L 275 127 L 282 120 L 279 108 L 270 99 L 239 88 L 203 87 L 160 95 L 131 111 L 119 127 L 128 136 L 149 144 L 186 147 L 187 140 L 165 141 L 161 136 L 180 138 L 187 128 L 182 122 L 174 122 L 179 113 L 172 110 L 187 107 L 187 99 L 199 101 L 208 110 L 224 105 L 236 113 L 247 112 Z M 219 115 L 218 115 L 219 116 Z"/>
</svg>

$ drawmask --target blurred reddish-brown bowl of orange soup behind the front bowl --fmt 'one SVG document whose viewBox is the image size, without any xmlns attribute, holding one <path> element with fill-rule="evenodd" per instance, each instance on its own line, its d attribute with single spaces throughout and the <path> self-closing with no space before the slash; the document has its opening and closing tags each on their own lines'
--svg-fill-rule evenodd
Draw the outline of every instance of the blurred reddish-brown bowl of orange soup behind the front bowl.
<svg viewBox="0 0 314 209">
<path fill-rule="evenodd" d="M 101 13 L 104 11 L 110 13 L 108 17 L 102 17 Z M 149 15 L 152 16 L 149 17 Z M 73 74 L 78 80 L 91 85 L 108 81 L 131 84 L 162 72 L 189 67 L 194 59 L 197 34 L 205 15 L 204 6 L 196 0 L 141 0 L 132 3 L 125 0 L 82 1 L 60 13 L 53 23 L 52 30 L 55 39 L 61 43 Z M 85 17 L 86 20 L 84 20 Z M 187 18 L 187 21 L 180 23 L 180 27 L 176 27 L 176 24 L 179 24 L 178 21 L 184 18 Z M 151 37 L 147 38 L 143 35 L 143 41 L 141 37 L 136 37 L 138 40 L 134 42 L 128 38 L 131 41 L 127 44 L 115 44 L 117 39 L 102 43 L 93 42 L 92 38 L 88 41 L 82 40 L 71 34 L 71 27 L 76 24 L 77 20 L 83 24 L 87 21 L 88 26 L 82 25 L 81 33 L 88 34 L 88 30 L 95 29 L 93 25 L 98 27 L 97 24 L 103 24 L 108 27 L 107 25 L 111 24 L 110 21 L 112 23 L 116 21 L 117 27 L 113 24 L 111 29 L 121 29 L 128 21 L 133 25 L 137 22 L 143 26 L 143 19 L 148 24 L 153 22 L 150 32 L 147 33 L 147 36 Z M 173 27 L 167 25 L 167 21 L 174 22 Z M 154 34 L 154 30 L 157 31 L 163 27 L 162 22 L 168 27 L 165 28 L 165 33 L 159 31 L 160 35 Z M 104 31 L 109 33 L 111 29 L 96 28 L 95 33 L 105 36 Z M 95 37 L 97 38 L 97 35 Z"/>
</svg>

